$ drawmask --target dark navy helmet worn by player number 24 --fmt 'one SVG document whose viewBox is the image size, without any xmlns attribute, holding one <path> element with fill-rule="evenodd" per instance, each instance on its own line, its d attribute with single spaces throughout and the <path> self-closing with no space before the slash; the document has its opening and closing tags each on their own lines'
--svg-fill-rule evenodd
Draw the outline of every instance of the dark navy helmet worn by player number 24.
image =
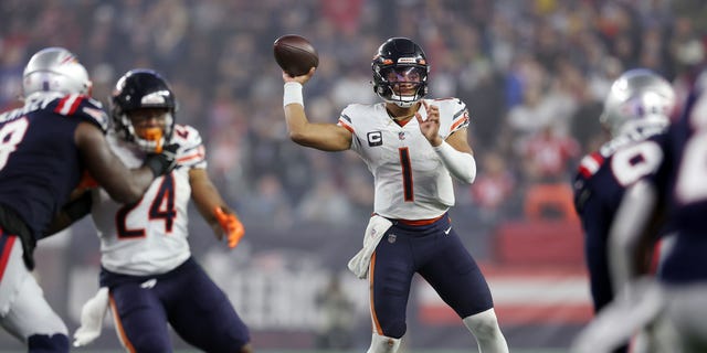
<svg viewBox="0 0 707 353">
<path fill-rule="evenodd" d="M 145 108 L 165 108 L 165 131 L 157 139 L 146 139 L 136 133 L 129 111 Z M 154 152 L 169 143 L 175 130 L 177 99 L 169 84 L 152 69 L 136 68 L 118 79 L 110 99 L 110 116 L 115 129 L 124 140 L 135 142 L 143 150 Z"/>
</svg>

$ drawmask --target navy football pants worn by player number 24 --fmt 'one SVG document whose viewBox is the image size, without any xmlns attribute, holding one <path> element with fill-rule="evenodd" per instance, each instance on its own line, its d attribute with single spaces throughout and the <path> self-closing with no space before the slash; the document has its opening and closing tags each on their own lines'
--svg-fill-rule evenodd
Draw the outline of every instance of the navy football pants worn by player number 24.
<svg viewBox="0 0 707 353">
<path fill-rule="evenodd" d="M 113 284 L 110 304 L 119 315 L 120 340 L 135 352 L 172 352 L 167 322 L 204 352 L 238 352 L 250 341 L 229 298 L 191 258 L 154 277 L 104 270 L 102 282 Z"/>
</svg>

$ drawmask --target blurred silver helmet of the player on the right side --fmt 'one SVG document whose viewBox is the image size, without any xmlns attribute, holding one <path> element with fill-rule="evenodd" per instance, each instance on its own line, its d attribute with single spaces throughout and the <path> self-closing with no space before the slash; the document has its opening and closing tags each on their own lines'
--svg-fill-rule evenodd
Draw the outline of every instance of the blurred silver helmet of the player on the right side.
<svg viewBox="0 0 707 353">
<path fill-rule="evenodd" d="M 599 121 L 612 137 L 634 130 L 661 129 L 671 122 L 674 108 L 673 86 L 650 69 L 634 68 L 611 85 Z"/>
</svg>

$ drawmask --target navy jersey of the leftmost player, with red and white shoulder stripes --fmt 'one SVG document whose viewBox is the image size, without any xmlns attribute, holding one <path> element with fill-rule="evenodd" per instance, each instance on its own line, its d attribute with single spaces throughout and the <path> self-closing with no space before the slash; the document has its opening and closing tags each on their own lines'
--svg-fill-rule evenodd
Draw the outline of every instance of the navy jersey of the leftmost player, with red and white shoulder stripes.
<svg viewBox="0 0 707 353">
<path fill-rule="evenodd" d="M 101 104 L 82 95 L 44 95 L 0 115 L 0 205 L 40 239 L 78 184 L 84 165 L 74 141 L 82 121 L 107 129 Z"/>
</svg>

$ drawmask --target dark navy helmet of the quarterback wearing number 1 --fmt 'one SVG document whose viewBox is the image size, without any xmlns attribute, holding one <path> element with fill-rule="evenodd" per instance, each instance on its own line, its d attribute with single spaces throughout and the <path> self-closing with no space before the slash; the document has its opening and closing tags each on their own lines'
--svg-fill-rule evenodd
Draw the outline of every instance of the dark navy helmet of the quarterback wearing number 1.
<svg viewBox="0 0 707 353">
<path fill-rule="evenodd" d="M 428 94 L 426 56 L 420 45 L 407 38 L 391 38 L 371 63 L 373 92 L 387 103 L 411 107 Z"/>
</svg>

